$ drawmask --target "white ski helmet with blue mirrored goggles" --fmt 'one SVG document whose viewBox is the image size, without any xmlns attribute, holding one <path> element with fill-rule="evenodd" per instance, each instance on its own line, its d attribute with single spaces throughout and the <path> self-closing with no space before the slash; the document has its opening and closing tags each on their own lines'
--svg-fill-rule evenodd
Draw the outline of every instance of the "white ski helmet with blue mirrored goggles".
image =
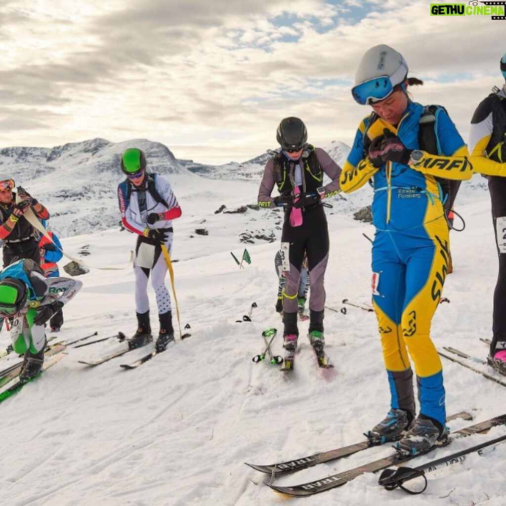
<svg viewBox="0 0 506 506">
<path fill-rule="evenodd" d="M 356 102 L 366 105 L 386 99 L 408 73 L 403 56 L 386 44 L 367 50 L 355 73 L 352 95 Z"/>
</svg>

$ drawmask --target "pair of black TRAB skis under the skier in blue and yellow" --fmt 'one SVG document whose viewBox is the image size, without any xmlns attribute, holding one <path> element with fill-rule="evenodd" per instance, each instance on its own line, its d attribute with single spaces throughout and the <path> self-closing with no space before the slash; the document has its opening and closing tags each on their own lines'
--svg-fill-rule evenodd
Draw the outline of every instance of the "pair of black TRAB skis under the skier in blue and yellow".
<svg viewBox="0 0 506 506">
<path fill-rule="evenodd" d="M 451 417 L 448 417 L 448 419 L 456 418 L 456 417 L 463 417 L 465 419 L 469 419 L 470 415 L 469 413 L 457 413 L 456 415 L 453 415 Z M 471 417 L 472 418 L 472 417 Z M 270 488 L 275 490 L 276 492 L 280 492 L 283 494 L 287 494 L 290 496 L 296 496 L 296 497 L 305 497 L 314 495 L 320 492 L 324 492 L 326 490 L 330 490 L 335 487 L 339 487 L 342 485 L 345 485 L 346 483 L 354 480 L 358 476 L 363 475 L 364 473 L 375 473 L 377 471 L 382 471 L 384 469 L 387 469 L 394 465 L 399 465 L 400 463 L 406 462 L 408 460 L 411 460 L 413 458 L 416 458 L 419 455 L 425 455 L 432 451 L 435 448 L 444 446 L 451 442 L 453 439 L 457 438 L 464 438 L 467 436 L 471 436 L 473 434 L 479 434 L 482 432 L 486 432 L 492 427 L 496 427 L 499 425 L 506 425 L 506 414 L 502 414 L 500 416 L 496 416 L 493 418 L 490 418 L 488 420 L 482 421 L 481 423 L 474 424 L 471 426 L 468 426 L 466 428 L 460 429 L 458 431 L 452 432 L 450 434 L 449 439 L 446 443 L 437 443 L 431 448 L 431 450 L 428 450 L 427 452 L 420 452 L 415 455 L 406 455 L 403 453 L 399 453 L 398 451 L 395 451 L 391 453 L 390 455 L 379 458 L 377 460 L 373 460 L 371 462 L 366 463 L 365 465 L 358 466 L 356 468 L 350 469 L 348 471 L 344 471 L 341 473 L 337 473 L 331 476 L 327 476 L 318 480 L 312 480 L 307 483 L 302 483 L 299 485 L 292 485 L 292 486 L 278 486 L 274 485 L 272 483 L 272 480 L 275 479 L 278 476 L 285 475 L 288 473 L 293 473 L 296 471 L 300 471 L 302 469 L 307 469 L 309 467 L 316 466 L 323 462 L 328 462 L 331 460 L 336 460 L 339 458 L 346 457 L 348 455 L 352 455 L 353 453 L 357 453 L 358 451 L 365 450 L 371 446 L 374 446 L 373 443 L 370 441 L 361 441 L 359 443 L 356 443 L 354 445 L 337 448 L 335 450 L 330 450 L 326 452 L 320 452 L 313 455 L 309 455 L 306 457 L 289 460 L 286 462 L 269 465 L 269 466 L 258 466 L 254 464 L 247 463 L 248 466 L 261 471 L 263 473 L 271 475 L 271 481 L 269 483 L 266 483 Z M 475 447 L 468 449 L 468 452 L 474 451 Z M 459 452 L 462 453 L 462 452 Z M 452 456 L 446 457 L 447 459 L 452 458 Z"/>
</svg>

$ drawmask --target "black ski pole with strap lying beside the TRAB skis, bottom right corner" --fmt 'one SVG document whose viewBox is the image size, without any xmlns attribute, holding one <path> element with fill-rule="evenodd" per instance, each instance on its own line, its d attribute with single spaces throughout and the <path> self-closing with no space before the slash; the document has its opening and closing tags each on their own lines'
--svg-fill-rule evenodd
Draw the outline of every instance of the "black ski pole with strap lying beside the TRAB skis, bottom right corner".
<svg viewBox="0 0 506 506">
<path fill-rule="evenodd" d="M 471 446 L 465 450 L 457 451 L 455 453 L 447 455 L 446 457 L 431 460 L 430 462 L 426 462 L 425 464 L 416 468 L 400 467 L 398 469 L 386 469 L 383 471 L 381 476 L 379 476 L 378 483 L 379 485 L 384 486 L 387 490 L 394 490 L 395 488 L 399 487 L 401 490 L 404 490 L 409 494 L 421 494 L 427 488 L 427 478 L 425 476 L 426 473 L 431 473 L 443 467 L 452 466 L 457 462 L 463 462 L 466 460 L 467 455 L 476 451 L 481 455 L 482 448 L 486 448 L 487 446 L 496 446 L 503 441 L 506 441 L 506 435 L 491 439 L 485 443 Z M 412 480 L 413 478 L 417 478 L 418 476 L 423 477 L 425 480 L 423 489 L 414 491 L 402 485 L 404 482 Z"/>
</svg>

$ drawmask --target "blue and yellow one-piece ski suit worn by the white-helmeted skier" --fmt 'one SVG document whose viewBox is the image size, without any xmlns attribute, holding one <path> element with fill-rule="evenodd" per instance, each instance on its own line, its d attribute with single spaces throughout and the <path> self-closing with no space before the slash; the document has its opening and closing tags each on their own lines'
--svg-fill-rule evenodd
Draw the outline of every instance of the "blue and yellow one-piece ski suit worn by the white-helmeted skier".
<svg viewBox="0 0 506 506">
<path fill-rule="evenodd" d="M 373 305 L 387 368 L 391 407 L 415 413 L 412 371 L 418 384 L 420 413 L 444 426 L 445 391 L 441 360 L 430 339 L 431 320 L 448 270 L 448 225 L 435 176 L 465 180 L 472 176 L 468 149 L 446 112 L 436 112 L 440 155 L 424 152 L 415 166 L 386 162 L 374 167 L 364 154 L 364 135 L 373 139 L 385 128 L 408 149 L 420 149 L 423 106 L 409 102 L 397 127 L 382 118 L 359 125 L 341 174 L 350 193 L 373 178 Z"/>
</svg>

